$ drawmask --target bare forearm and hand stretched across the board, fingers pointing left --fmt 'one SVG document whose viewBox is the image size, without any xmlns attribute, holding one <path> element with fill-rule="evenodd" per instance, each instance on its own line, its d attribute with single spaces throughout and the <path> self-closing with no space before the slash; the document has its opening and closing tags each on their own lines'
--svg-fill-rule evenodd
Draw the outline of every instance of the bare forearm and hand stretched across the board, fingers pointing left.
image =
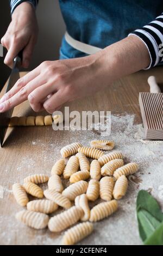
<svg viewBox="0 0 163 256">
<path fill-rule="evenodd" d="M 34 111 L 46 109 L 53 113 L 68 101 L 92 95 L 118 78 L 150 65 L 147 44 L 130 35 L 91 56 L 43 62 L 2 97 L 0 111 L 28 99 Z"/>
</svg>

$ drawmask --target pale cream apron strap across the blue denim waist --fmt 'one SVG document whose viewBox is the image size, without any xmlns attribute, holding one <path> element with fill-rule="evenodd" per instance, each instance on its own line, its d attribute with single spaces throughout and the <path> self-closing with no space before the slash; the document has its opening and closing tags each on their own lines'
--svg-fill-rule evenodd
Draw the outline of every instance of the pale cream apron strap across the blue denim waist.
<svg viewBox="0 0 163 256">
<path fill-rule="evenodd" d="M 73 39 L 72 36 L 67 33 L 67 31 L 65 33 L 65 40 L 73 48 L 75 48 L 80 52 L 84 52 L 86 54 L 94 54 L 102 50 L 102 48 L 98 48 L 92 45 L 87 45 L 87 44 L 84 44 L 84 42 L 80 42 L 76 39 Z"/>
</svg>

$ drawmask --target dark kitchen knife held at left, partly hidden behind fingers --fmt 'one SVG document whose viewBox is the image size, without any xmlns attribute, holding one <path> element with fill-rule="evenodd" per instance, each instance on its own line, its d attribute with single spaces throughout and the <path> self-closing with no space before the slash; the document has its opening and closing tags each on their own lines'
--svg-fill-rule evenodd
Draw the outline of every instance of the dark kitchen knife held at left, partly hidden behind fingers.
<svg viewBox="0 0 163 256">
<path fill-rule="evenodd" d="M 9 82 L 7 85 L 7 89 L 5 93 L 7 93 L 16 83 L 16 81 L 20 78 L 19 69 L 22 62 L 22 51 L 18 53 L 18 55 L 14 58 L 14 67 L 11 71 L 11 75 L 9 77 Z M 8 111 L 4 113 L 0 113 L 0 142 L 1 147 L 3 146 L 4 137 L 8 130 L 10 118 L 12 116 L 14 108 L 9 109 Z"/>
</svg>

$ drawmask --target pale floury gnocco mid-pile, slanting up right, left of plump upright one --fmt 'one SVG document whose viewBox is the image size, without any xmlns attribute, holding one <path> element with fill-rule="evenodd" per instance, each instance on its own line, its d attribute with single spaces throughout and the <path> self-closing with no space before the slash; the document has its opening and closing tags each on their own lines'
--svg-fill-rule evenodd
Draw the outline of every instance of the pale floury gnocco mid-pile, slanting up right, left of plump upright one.
<svg viewBox="0 0 163 256">
<path fill-rule="evenodd" d="M 87 190 L 87 182 L 80 180 L 74 184 L 71 184 L 62 192 L 62 195 L 73 201 L 79 194 L 83 194 Z"/>
</svg>

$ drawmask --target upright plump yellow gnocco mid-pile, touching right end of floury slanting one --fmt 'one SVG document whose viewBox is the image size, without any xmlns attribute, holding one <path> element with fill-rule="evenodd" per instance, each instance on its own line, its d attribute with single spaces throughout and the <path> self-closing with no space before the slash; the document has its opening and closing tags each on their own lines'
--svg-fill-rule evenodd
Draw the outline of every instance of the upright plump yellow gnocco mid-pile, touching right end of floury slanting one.
<svg viewBox="0 0 163 256">
<path fill-rule="evenodd" d="M 95 201 L 99 197 L 99 181 L 91 179 L 86 191 L 87 199 Z"/>
</svg>

